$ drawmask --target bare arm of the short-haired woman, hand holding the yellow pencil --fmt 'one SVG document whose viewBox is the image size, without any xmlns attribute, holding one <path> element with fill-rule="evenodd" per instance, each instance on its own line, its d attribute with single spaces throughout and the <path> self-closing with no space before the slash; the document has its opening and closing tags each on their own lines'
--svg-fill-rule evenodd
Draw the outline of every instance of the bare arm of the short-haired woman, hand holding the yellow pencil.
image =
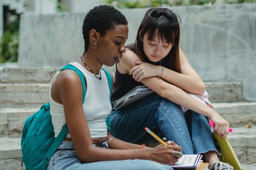
<svg viewBox="0 0 256 170">
<path fill-rule="evenodd" d="M 130 148 L 133 147 L 137 148 L 137 146 L 134 144 L 125 144 L 125 147 L 122 148 L 127 148 L 129 150 L 103 149 L 94 147 L 92 145 L 93 143 L 86 116 L 84 116 L 82 108 L 81 81 L 76 72 L 73 70 L 63 70 L 60 72 L 53 83 L 51 95 L 56 102 L 63 104 L 66 122 L 70 131 L 72 142 L 81 162 L 147 159 L 164 164 L 175 164 L 175 162 L 178 161 L 178 158 L 174 157 L 172 153 L 174 150 L 181 151 L 181 147 L 175 145 L 159 145 L 153 149 L 142 150 L 130 150 Z"/>
</svg>

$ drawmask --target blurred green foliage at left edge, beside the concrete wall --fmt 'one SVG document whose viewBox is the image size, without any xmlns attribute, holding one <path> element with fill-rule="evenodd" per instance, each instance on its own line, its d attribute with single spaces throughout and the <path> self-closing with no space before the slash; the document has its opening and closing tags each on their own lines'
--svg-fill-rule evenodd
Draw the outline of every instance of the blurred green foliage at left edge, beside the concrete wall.
<svg viewBox="0 0 256 170">
<path fill-rule="evenodd" d="M 0 41 L 0 63 L 16 62 L 18 56 L 19 19 L 9 23 Z"/>
</svg>

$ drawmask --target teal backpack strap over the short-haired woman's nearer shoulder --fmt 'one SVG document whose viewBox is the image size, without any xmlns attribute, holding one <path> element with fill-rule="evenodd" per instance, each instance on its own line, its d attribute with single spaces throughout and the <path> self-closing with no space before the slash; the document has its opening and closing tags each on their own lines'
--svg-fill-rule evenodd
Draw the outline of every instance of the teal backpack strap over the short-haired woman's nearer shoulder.
<svg viewBox="0 0 256 170">
<path fill-rule="evenodd" d="M 82 103 L 84 102 L 84 98 L 86 97 L 86 79 L 84 78 L 84 75 L 82 74 L 82 72 L 76 68 L 75 66 L 68 64 L 65 67 L 61 68 L 61 70 L 65 70 L 65 69 L 72 69 L 74 70 L 79 78 L 81 79 L 82 82 Z M 47 163 L 50 161 L 52 155 L 54 154 L 54 152 L 57 150 L 57 148 L 59 147 L 59 145 L 62 143 L 62 141 L 66 138 L 66 136 L 69 134 L 69 129 L 67 126 L 67 123 L 65 125 L 62 126 L 61 131 L 59 132 L 58 136 L 55 138 L 55 140 L 53 141 L 51 147 L 49 148 L 49 150 L 46 153 L 46 161 Z"/>
</svg>

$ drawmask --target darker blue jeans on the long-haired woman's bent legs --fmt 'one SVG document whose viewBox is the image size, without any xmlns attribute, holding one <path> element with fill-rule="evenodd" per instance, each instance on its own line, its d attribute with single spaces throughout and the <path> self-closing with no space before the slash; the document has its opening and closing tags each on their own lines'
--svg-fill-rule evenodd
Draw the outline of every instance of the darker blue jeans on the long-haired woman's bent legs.
<svg viewBox="0 0 256 170">
<path fill-rule="evenodd" d="M 204 115 L 191 110 L 183 114 L 180 105 L 156 93 L 120 110 L 112 107 L 111 134 L 116 138 L 132 143 L 157 142 L 145 127 L 175 141 L 182 147 L 183 154 L 218 153 Z"/>
</svg>

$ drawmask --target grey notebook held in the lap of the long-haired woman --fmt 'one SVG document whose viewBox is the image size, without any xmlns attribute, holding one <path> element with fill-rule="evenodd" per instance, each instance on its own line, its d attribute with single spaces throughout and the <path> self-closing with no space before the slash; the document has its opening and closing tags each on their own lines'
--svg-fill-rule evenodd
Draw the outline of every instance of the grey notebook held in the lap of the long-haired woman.
<svg viewBox="0 0 256 170">
<path fill-rule="evenodd" d="M 148 88 L 147 86 L 137 86 L 125 95 L 123 95 L 122 98 L 116 100 L 114 102 L 114 107 L 116 110 L 121 109 L 142 98 L 145 98 L 145 96 L 150 95 L 152 93 L 154 93 L 154 91 Z"/>
</svg>

